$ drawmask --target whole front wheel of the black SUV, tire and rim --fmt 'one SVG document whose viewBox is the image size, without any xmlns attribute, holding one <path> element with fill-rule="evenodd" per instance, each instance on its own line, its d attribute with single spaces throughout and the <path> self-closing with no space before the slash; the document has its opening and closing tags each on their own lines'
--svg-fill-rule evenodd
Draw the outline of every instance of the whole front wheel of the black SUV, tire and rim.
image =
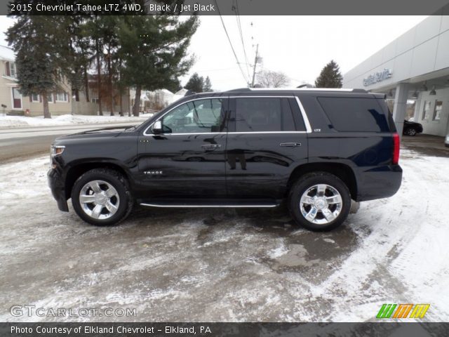
<svg viewBox="0 0 449 337">
<path fill-rule="evenodd" d="M 72 205 L 92 225 L 116 225 L 130 213 L 133 201 L 128 182 L 111 169 L 93 169 L 74 183 Z"/>
</svg>

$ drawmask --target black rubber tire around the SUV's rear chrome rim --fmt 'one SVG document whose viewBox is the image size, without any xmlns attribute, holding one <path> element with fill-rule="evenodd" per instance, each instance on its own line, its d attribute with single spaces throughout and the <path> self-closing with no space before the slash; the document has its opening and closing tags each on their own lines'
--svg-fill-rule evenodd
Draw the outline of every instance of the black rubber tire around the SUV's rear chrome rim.
<svg viewBox="0 0 449 337">
<path fill-rule="evenodd" d="M 317 185 L 326 185 L 326 189 L 323 192 L 323 195 L 319 195 L 318 189 L 314 189 Z M 309 191 L 309 194 L 305 194 Z M 336 192 L 338 193 L 336 193 Z M 311 194 L 316 193 L 316 197 L 321 197 L 321 199 L 330 200 L 330 197 L 338 197 L 337 194 L 340 194 L 341 203 L 335 204 L 323 204 L 322 201 L 317 201 L 319 206 L 307 205 L 303 204 L 304 213 L 310 212 L 312 208 L 316 211 L 314 221 L 324 223 L 315 223 L 303 215 L 301 198 L 303 195 L 311 196 Z M 320 199 L 320 198 L 318 198 Z M 323 207 L 323 209 L 319 209 L 318 207 Z M 325 208 L 326 207 L 326 208 Z M 301 225 L 307 230 L 313 231 L 328 231 L 333 230 L 336 227 L 342 225 L 344 220 L 346 220 L 349 209 L 351 209 L 351 194 L 349 193 L 349 189 L 346 184 L 337 178 L 333 174 L 326 172 L 316 172 L 316 173 L 308 173 L 305 176 L 302 176 L 293 187 L 290 189 L 290 193 L 288 196 L 288 208 L 290 209 L 290 213 L 293 216 L 293 219 L 298 225 Z M 326 212 L 328 216 L 325 216 Z M 330 211 L 330 214 L 329 214 Z M 313 213 L 313 212 L 312 212 Z M 309 214 L 309 213 L 307 213 Z M 335 214 L 337 214 L 335 216 Z M 313 216 L 313 214 L 312 214 Z M 333 220 L 328 220 L 328 218 L 333 218 Z"/>
</svg>

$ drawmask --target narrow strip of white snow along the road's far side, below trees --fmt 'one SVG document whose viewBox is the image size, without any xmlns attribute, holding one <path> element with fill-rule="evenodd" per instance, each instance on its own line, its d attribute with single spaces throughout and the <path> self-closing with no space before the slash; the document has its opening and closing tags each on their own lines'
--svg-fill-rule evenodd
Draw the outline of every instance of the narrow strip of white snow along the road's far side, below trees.
<svg viewBox="0 0 449 337">
<path fill-rule="evenodd" d="M 139 117 L 128 116 L 90 116 L 84 114 L 62 114 L 50 119 L 39 117 L 24 116 L 3 116 L 0 115 L 0 128 L 19 128 L 27 126 L 63 126 L 77 124 L 106 124 L 106 123 L 125 123 L 133 121 L 145 121 L 151 114 L 140 114 Z"/>
</svg>

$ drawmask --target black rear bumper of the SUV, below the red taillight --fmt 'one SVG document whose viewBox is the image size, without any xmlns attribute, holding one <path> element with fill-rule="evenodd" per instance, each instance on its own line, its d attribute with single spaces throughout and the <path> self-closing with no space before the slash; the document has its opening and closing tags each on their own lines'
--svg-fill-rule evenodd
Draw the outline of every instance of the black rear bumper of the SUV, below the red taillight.
<svg viewBox="0 0 449 337">
<path fill-rule="evenodd" d="M 367 201 L 391 197 L 398 192 L 402 182 L 399 165 L 387 165 L 363 171 L 358 175 L 356 201 Z"/>
</svg>

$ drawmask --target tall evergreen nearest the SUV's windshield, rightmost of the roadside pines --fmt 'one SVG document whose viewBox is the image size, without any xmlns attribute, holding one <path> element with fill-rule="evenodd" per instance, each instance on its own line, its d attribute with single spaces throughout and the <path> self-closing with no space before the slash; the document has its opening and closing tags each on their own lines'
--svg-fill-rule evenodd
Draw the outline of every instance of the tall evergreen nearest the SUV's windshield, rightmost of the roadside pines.
<svg viewBox="0 0 449 337">
<path fill-rule="evenodd" d="M 133 114 L 138 116 L 143 90 L 154 91 L 176 84 L 193 64 L 187 58 L 190 38 L 199 19 L 178 15 L 124 16 L 119 24 L 119 57 L 122 81 L 135 88 Z"/>
</svg>

